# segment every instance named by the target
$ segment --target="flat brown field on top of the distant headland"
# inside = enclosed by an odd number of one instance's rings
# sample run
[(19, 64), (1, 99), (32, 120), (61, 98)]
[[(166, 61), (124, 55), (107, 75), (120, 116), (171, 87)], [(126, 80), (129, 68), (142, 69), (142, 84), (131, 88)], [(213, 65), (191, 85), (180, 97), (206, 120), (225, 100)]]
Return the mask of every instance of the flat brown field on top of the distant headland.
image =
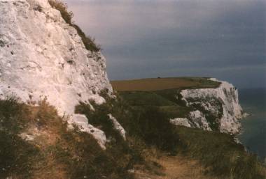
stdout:
[(160, 91), (173, 88), (216, 88), (219, 82), (202, 77), (172, 77), (111, 81), (115, 91)]

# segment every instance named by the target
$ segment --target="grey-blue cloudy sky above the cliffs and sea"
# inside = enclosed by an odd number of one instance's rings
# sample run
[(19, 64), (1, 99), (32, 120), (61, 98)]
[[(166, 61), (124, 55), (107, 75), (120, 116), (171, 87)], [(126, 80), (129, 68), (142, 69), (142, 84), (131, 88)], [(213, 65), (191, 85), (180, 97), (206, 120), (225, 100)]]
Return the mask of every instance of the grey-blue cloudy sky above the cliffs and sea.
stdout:
[(65, 0), (109, 79), (216, 77), (266, 87), (266, 0)]

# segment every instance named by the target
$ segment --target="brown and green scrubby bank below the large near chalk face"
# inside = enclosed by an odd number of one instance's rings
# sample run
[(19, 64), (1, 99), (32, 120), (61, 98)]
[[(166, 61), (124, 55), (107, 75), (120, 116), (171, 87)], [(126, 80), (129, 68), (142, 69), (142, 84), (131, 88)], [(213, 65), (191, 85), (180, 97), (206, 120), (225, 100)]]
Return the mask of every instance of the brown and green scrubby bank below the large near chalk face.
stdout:
[(127, 170), (140, 159), (130, 141), (111, 141), (102, 150), (90, 134), (68, 130), (45, 100), (38, 107), (0, 100), (0, 121), (0, 178), (130, 179)]

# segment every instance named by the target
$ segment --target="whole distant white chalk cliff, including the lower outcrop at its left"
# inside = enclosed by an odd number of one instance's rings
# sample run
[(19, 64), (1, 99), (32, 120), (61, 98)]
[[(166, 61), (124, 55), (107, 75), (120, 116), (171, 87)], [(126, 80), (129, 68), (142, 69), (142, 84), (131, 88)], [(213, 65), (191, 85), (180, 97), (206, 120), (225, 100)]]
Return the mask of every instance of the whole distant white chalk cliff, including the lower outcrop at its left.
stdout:
[[(209, 79), (218, 81), (217, 79)], [(186, 102), (188, 107), (195, 107), (206, 116), (197, 115), (189, 117), (190, 120), (172, 120), (172, 123), (181, 125), (186, 121), (193, 127), (193, 123), (199, 124), (195, 127), (202, 128), (204, 130), (210, 130), (209, 126), (218, 125), (218, 130), (221, 132), (237, 134), (240, 130), (239, 119), (243, 117), (243, 111), (239, 104), (238, 91), (232, 84), (226, 81), (221, 82), (218, 88), (199, 88), (199, 89), (186, 89), (181, 91), (182, 100)], [(209, 125), (206, 123), (207, 115), (214, 119)], [(202, 117), (200, 117), (202, 116)], [(200, 118), (202, 118), (200, 120)], [(180, 122), (179, 122), (180, 121)]]

